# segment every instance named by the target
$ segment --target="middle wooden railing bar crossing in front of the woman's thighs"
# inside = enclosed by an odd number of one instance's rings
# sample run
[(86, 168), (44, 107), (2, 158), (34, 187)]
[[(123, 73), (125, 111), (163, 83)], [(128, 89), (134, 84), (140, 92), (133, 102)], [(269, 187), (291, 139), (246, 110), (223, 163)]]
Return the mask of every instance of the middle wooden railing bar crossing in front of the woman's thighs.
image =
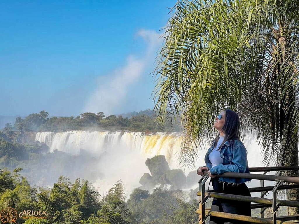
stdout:
[[(205, 195), (208, 195), (208, 197), (214, 197), (219, 199), (244, 201), (244, 202), (256, 202), (256, 203), (272, 205), (272, 199), (268, 199), (268, 198), (250, 197), (250, 196), (243, 196), (243, 195), (236, 195), (236, 194), (223, 194), (223, 193), (215, 193), (215, 192), (206, 192)], [(200, 191), (197, 191), (197, 196), (201, 196)], [(280, 203), (281, 206), (299, 208), (298, 201), (277, 200), (277, 203)]]

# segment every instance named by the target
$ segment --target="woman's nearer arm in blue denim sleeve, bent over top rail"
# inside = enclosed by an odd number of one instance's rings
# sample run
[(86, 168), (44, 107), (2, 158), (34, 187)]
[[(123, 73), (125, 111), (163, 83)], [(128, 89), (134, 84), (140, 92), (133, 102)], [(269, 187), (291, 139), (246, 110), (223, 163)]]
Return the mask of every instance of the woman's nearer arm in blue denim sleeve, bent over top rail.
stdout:
[(216, 165), (210, 169), (210, 172), (212, 175), (221, 175), (226, 172), (244, 173), (247, 167), (247, 154), (243, 144), (234, 149), (232, 163)]

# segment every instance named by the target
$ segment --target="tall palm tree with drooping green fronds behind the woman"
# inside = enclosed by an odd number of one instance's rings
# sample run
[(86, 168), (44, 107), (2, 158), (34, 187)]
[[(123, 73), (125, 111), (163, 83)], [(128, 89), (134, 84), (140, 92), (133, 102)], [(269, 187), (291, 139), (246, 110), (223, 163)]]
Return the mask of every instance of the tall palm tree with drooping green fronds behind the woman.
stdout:
[[(196, 145), (210, 142), (226, 107), (239, 113), (243, 135), (256, 134), (265, 165), (298, 165), (298, 7), (298, 0), (182, 0), (171, 9), (153, 96), (161, 124), (181, 118), (181, 165), (194, 165)], [(298, 200), (298, 191), (287, 198)]]

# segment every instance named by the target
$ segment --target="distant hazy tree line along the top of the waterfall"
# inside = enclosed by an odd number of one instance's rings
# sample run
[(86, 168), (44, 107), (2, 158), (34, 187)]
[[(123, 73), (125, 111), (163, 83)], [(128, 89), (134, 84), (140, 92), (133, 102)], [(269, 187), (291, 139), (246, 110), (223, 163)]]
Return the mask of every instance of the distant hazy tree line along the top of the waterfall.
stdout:
[[(179, 126), (170, 123), (164, 126), (158, 125), (155, 113), (148, 109), (145, 111), (132, 112), (136, 115), (124, 117), (122, 115), (105, 116), (99, 113), (81, 113), (74, 117), (48, 117), (49, 113), (40, 111), (31, 113), (25, 118), (16, 117), (14, 125), (7, 123), (4, 132), (9, 131), (69, 131), (69, 130), (127, 130), (127, 131), (180, 131)], [(126, 114), (129, 115), (129, 114)]]

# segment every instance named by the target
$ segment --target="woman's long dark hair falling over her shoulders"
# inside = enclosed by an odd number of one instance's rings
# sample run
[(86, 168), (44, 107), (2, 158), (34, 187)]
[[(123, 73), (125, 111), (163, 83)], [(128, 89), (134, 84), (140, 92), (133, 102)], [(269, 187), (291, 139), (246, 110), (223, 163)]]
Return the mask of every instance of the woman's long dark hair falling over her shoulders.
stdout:
[[(221, 131), (224, 132), (225, 137), (219, 149), (221, 148), (221, 146), (224, 144), (225, 141), (234, 140), (234, 139), (240, 140), (239, 139), (240, 119), (238, 114), (235, 111), (232, 111), (230, 109), (225, 109), (224, 111), (225, 111), (225, 123)], [(219, 140), (219, 134), (216, 136), (216, 138), (213, 139), (213, 141), (216, 141), (215, 146), (217, 145), (218, 140)]]

